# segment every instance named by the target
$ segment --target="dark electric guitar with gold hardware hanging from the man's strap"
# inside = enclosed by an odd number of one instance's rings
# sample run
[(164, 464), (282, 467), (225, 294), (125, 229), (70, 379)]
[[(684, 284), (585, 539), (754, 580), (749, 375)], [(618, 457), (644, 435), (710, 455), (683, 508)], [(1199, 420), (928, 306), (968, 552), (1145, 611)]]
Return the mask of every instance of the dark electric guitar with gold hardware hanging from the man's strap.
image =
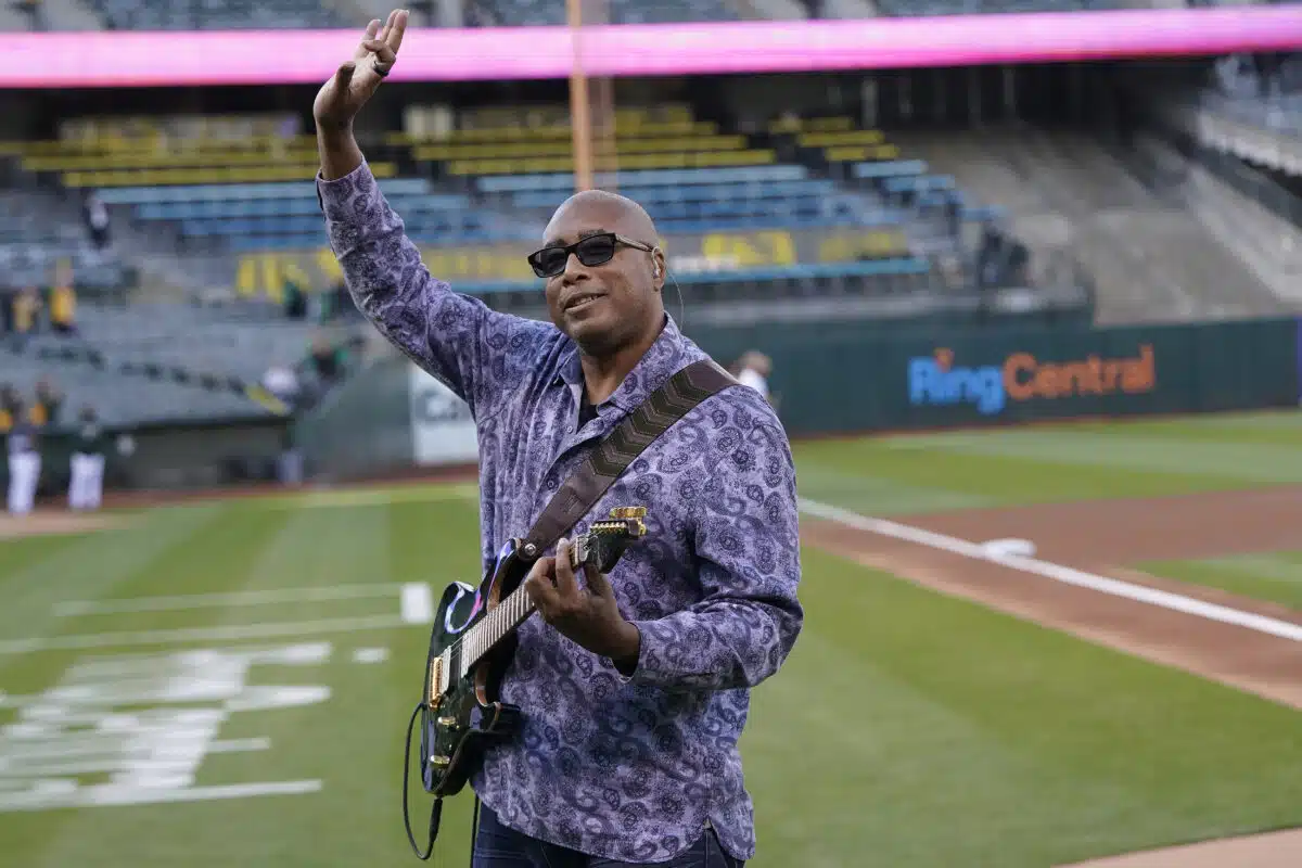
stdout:
[[(634, 541), (646, 536), (646, 508), (611, 510), (609, 521), (592, 522), (570, 548), (570, 565), (592, 566), (609, 573)], [(411, 716), (424, 714), (421, 727), (421, 778), (435, 796), (430, 820), (430, 851), (437, 835), (443, 798), (460, 793), (483, 752), (512, 738), (519, 729), (518, 707), (501, 701), (501, 678), (516, 651), (516, 631), (534, 614), (523, 588), (525, 578), (540, 552), (519, 539), (510, 539), (497, 553), (480, 583), (473, 588), (453, 582), (439, 600), (430, 658), (424, 670), (423, 696)], [(411, 730), (408, 727), (410, 750)], [(402, 808), (406, 815), (406, 769)], [(411, 837), (417, 856), (422, 854)]]

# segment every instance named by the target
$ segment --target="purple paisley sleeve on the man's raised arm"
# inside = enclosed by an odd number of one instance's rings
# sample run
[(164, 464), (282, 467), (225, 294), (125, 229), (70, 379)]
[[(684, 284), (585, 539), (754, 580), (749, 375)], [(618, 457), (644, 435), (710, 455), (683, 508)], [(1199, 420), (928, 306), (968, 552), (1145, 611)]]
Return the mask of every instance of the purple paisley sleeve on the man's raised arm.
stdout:
[(331, 249), (358, 310), (431, 376), (491, 415), (533, 367), (543, 323), (493, 311), (432, 277), (366, 161), (341, 178), (316, 176)]

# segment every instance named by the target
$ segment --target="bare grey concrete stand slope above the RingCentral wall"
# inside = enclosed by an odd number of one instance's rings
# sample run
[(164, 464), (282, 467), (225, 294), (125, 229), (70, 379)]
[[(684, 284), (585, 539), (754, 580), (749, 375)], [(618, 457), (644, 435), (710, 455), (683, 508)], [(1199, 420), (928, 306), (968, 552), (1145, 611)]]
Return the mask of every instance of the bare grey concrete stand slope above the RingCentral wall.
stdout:
[(1069, 250), (1101, 323), (1282, 312), (1288, 305), (1184, 207), (1161, 202), (1095, 141), (1036, 129), (897, 141), (1008, 210), (1032, 250)]

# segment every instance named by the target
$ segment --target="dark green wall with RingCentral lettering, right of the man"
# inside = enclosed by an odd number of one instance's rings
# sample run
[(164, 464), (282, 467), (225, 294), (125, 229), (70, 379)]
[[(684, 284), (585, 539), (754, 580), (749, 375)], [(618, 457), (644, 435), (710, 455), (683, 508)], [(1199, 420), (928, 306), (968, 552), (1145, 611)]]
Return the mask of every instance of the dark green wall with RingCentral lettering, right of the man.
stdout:
[(793, 436), (1293, 406), (1293, 319), (1125, 328), (775, 334)]

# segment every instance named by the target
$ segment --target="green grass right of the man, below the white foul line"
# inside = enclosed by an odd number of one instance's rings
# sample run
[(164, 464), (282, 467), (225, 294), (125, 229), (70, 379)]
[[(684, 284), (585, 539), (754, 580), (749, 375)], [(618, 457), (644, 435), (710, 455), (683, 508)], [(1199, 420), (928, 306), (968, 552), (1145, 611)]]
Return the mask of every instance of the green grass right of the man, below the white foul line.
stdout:
[(1295, 712), (810, 548), (805, 570), (807, 634), (743, 739), (755, 865), (1043, 868), (1302, 822)]

